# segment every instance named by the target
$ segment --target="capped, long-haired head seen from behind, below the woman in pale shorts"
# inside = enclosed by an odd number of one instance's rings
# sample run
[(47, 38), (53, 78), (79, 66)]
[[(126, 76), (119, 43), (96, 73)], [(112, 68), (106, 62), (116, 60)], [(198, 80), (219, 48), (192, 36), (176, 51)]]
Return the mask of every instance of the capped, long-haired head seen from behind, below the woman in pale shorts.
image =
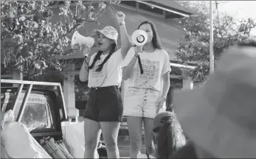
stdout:
[(186, 138), (174, 113), (159, 113), (153, 124), (157, 158), (170, 158), (173, 152), (186, 144)]

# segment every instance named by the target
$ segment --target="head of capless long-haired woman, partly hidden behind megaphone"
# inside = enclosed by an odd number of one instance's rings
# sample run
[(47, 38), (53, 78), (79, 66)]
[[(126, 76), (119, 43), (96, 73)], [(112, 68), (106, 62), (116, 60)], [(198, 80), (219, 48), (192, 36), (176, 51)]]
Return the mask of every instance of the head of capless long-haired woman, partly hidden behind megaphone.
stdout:
[(157, 34), (156, 26), (152, 21), (143, 21), (139, 24), (138, 29), (142, 29), (148, 34), (147, 43), (152, 43), (155, 49), (162, 49), (162, 44), (159, 40), (159, 35)]

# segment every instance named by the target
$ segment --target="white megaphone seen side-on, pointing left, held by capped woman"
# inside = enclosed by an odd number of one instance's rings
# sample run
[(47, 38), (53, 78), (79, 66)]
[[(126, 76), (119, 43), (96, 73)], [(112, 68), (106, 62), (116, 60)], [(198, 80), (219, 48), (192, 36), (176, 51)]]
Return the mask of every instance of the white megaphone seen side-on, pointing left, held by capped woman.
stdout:
[(92, 47), (94, 45), (94, 38), (85, 37), (83, 35), (80, 35), (77, 31), (75, 31), (72, 36), (71, 46), (74, 46), (75, 44)]

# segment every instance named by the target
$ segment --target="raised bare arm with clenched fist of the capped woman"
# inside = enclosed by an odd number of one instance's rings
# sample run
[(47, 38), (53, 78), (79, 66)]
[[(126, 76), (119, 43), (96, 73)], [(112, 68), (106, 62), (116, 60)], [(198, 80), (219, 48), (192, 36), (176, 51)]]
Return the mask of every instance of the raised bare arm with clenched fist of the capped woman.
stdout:
[(125, 59), (125, 56), (128, 52), (128, 50), (132, 47), (131, 40), (128, 37), (128, 32), (125, 27), (125, 14), (121, 11), (117, 12), (117, 22), (120, 26), (120, 36), (121, 36), (121, 54), (122, 59)]

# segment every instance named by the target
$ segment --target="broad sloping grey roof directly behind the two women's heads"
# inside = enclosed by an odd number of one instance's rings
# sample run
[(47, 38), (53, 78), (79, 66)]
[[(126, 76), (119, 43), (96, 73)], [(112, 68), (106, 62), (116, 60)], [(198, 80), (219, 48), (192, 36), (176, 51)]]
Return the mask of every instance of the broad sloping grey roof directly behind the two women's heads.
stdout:
[[(117, 10), (120, 9), (117, 7)], [(160, 40), (162, 41), (163, 49), (165, 49), (169, 56), (170, 60), (175, 60), (175, 52), (178, 48), (178, 40), (183, 39), (184, 31), (177, 27), (173, 26), (173, 24), (170, 23), (170, 21), (167, 21), (166, 19), (161, 18), (155, 18), (151, 15), (147, 15), (145, 13), (139, 13), (136, 11), (131, 12), (131, 10), (122, 8), (122, 12), (125, 13), (125, 22), (126, 22), (126, 29), (128, 32), (128, 35), (132, 35), (132, 33), (137, 29), (139, 24), (142, 21), (150, 20), (153, 21), (153, 23), (156, 25), (156, 29), (159, 33)], [(111, 18), (110, 18), (111, 17)], [(97, 24), (86, 24), (84, 27), (81, 27), (78, 29), (78, 32), (81, 35), (86, 36), (83, 32), (84, 29), (87, 29), (86, 32), (91, 32), (92, 29), (102, 29), (104, 26), (111, 25), (114, 26), (116, 29), (119, 29), (119, 26), (117, 25), (117, 22), (114, 19), (113, 12), (111, 13), (111, 10), (108, 9), (105, 14), (100, 16), (98, 18), (98, 21), (100, 21), (100, 25)], [(91, 29), (91, 30), (90, 30)], [(69, 35), (69, 39), (72, 38), (72, 35)], [(120, 36), (118, 38), (118, 45), (120, 46)], [(70, 55), (69, 57), (66, 57), (66, 59), (74, 59), (74, 58), (83, 58), (83, 54), (80, 54), (80, 52), (77, 52), (75, 54)]]

